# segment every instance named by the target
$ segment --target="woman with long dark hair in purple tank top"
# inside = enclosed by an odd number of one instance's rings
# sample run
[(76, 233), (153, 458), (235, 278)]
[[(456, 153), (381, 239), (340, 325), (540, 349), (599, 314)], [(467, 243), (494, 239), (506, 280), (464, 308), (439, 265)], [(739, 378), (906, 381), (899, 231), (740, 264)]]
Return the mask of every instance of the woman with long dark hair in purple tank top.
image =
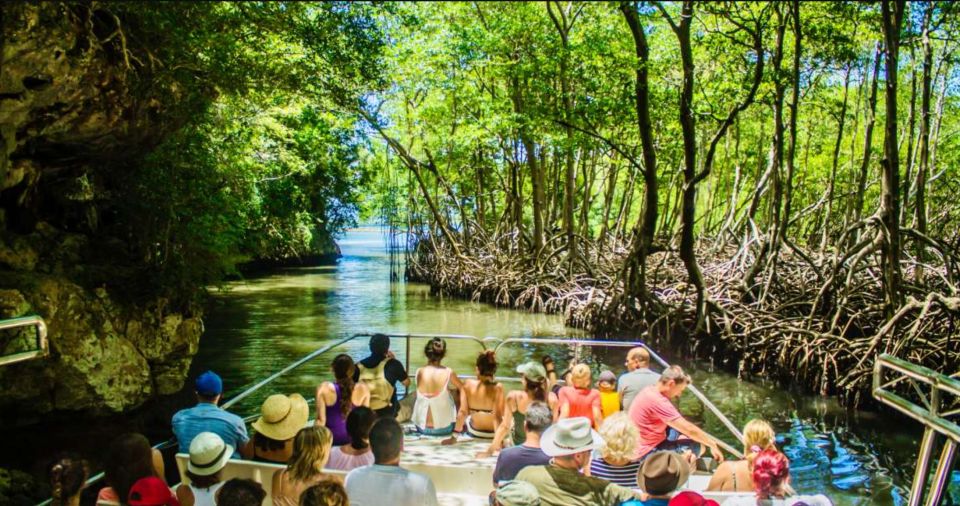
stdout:
[(354, 383), (356, 367), (350, 355), (340, 354), (333, 359), (334, 382), (323, 382), (317, 387), (317, 417), (314, 423), (325, 425), (333, 434), (333, 444), (350, 442), (347, 434), (347, 415), (357, 406), (370, 406), (370, 389), (364, 383)]

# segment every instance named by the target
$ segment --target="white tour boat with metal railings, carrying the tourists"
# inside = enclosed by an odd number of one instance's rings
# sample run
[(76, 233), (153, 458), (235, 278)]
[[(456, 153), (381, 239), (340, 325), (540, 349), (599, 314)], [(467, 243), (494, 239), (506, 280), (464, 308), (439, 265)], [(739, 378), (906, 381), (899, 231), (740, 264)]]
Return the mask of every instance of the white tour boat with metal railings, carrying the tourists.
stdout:
[[(0, 357), (0, 365), (13, 363), (22, 360), (31, 360), (45, 357), (48, 353), (46, 341), (46, 326), (43, 320), (38, 317), (18, 318), (15, 320), (0, 321), (0, 330), (5, 328), (16, 328), (33, 326), (37, 333), (37, 350), (32, 352), (23, 352), (15, 357)], [(667, 367), (669, 364), (664, 361), (659, 354), (650, 349), (645, 343), (640, 341), (598, 341), (583, 339), (538, 339), (538, 338), (477, 338), (467, 335), (449, 335), (449, 334), (387, 334), (391, 339), (402, 339), (405, 343), (406, 368), (410, 370), (411, 340), (429, 339), (441, 337), (448, 341), (472, 341), (480, 350), (494, 350), (499, 353), (501, 350), (510, 347), (523, 347), (529, 349), (534, 346), (553, 345), (567, 346), (571, 349), (574, 357), (579, 357), (585, 348), (632, 348), (643, 346), (650, 353), (652, 360), (661, 367)], [(339, 339), (333, 343), (327, 344), (303, 358), (287, 365), (282, 370), (259, 381), (255, 385), (246, 389), (241, 394), (229, 399), (223, 404), (224, 409), (236, 405), (242, 399), (249, 397), (253, 393), (271, 384), (277, 378), (289, 374), (291, 371), (311, 362), (317, 357), (324, 355), (338, 347), (355, 339), (368, 339), (371, 334), (355, 334), (346, 338)], [(467, 343), (464, 343), (467, 345)], [(519, 378), (509, 378), (498, 376), (498, 381), (517, 382)], [(910, 390), (905, 387), (909, 386)], [(895, 388), (899, 387), (899, 388)], [(415, 392), (415, 388), (408, 389), (409, 392)], [(687, 389), (703, 405), (713, 413), (730, 432), (733, 439), (742, 440), (742, 435), (737, 427), (703, 395), (694, 385)], [(904, 392), (912, 392), (912, 397), (918, 397), (919, 403), (904, 397)], [(960, 415), (960, 409), (950, 408), (950, 402), (960, 397), (960, 381), (955, 378), (940, 374), (925, 367), (912, 364), (910, 362), (892, 357), (881, 355), (875, 363), (873, 373), (873, 395), (881, 403), (893, 407), (905, 415), (919, 421), (925, 426), (923, 439), (921, 440), (920, 452), (913, 483), (908, 496), (908, 504), (916, 506), (924, 501), (925, 504), (933, 506), (938, 504), (940, 498), (946, 489), (949, 480), (950, 470), (953, 459), (956, 454), (957, 443), (960, 443), (960, 426), (954, 420)], [(406, 395), (401, 403), (411, 404), (413, 395)], [(247, 416), (245, 420), (250, 422), (256, 419), (257, 415)], [(313, 422), (308, 422), (312, 424)], [(443, 438), (421, 436), (413, 430), (412, 424), (405, 424), (406, 436), (404, 440), (404, 450), (401, 457), (401, 467), (425, 474), (433, 481), (440, 504), (443, 505), (487, 505), (489, 504), (488, 495), (493, 489), (493, 468), (496, 463), (496, 457), (478, 459), (476, 454), (487, 448), (489, 440), (472, 439), (464, 435), (454, 445), (444, 446), (440, 442)], [(722, 440), (713, 437), (719, 446), (728, 454), (742, 458), (742, 453)], [(943, 449), (941, 451), (936, 470), (928, 483), (928, 475), (931, 463), (934, 461), (933, 449), (938, 444), (938, 438), (943, 438)], [(176, 442), (169, 440), (155, 446), (161, 450), (173, 448)], [(186, 464), (189, 460), (187, 454), (177, 454), (177, 468), (180, 471), (180, 479), (187, 480), (185, 475)], [(261, 483), (267, 491), (267, 499), (264, 504), (271, 504), (270, 491), (272, 487), (273, 474), (282, 469), (280, 464), (267, 464), (252, 461), (231, 460), (222, 471), (223, 480), (231, 478), (249, 478)], [(328, 471), (330, 475), (345, 476), (342, 471)], [(88, 481), (88, 486), (94, 486), (102, 480), (103, 474), (93, 476)], [(699, 492), (704, 497), (714, 499), (723, 503), (726, 499), (738, 495), (752, 495), (735, 492), (707, 492), (706, 487), (710, 480), (710, 474), (702, 471), (691, 473), (687, 483), (683, 484), (678, 490), (692, 490)], [(175, 487), (174, 487), (175, 488)], [(40, 503), (39, 506), (49, 504), (49, 500)], [(99, 503), (108, 505), (110, 503)]]

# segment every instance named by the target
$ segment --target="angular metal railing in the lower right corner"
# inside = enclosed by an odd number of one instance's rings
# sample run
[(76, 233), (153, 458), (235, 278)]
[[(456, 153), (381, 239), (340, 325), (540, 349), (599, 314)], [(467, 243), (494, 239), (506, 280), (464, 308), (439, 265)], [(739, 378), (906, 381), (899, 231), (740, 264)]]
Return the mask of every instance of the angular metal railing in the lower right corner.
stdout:
[[(892, 388), (909, 385), (916, 402), (897, 393)], [(907, 395), (907, 394), (904, 394)], [(960, 426), (948, 417), (960, 415), (960, 409), (949, 409), (946, 401), (960, 399), (960, 381), (937, 371), (907, 362), (892, 355), (881, 355), (873, 366), (873, 396), (880, 402), (913, 418), (924, 426), (923, 439), (917, 455), (917, 468), (910, 486), (908, 504), (917, 506), (927, 496), (927, 506), (940, 503), (950, 477), (950, 469), (960, 443)], [(913, 397), (913, 396), (912, 396)], [(926, 487), (927, 475), (933, 459), (933, 447), (937, 436), (944, 436), (943, 450), (930, 487)], [(926, 490), (926, 494), (924, 491)]]

